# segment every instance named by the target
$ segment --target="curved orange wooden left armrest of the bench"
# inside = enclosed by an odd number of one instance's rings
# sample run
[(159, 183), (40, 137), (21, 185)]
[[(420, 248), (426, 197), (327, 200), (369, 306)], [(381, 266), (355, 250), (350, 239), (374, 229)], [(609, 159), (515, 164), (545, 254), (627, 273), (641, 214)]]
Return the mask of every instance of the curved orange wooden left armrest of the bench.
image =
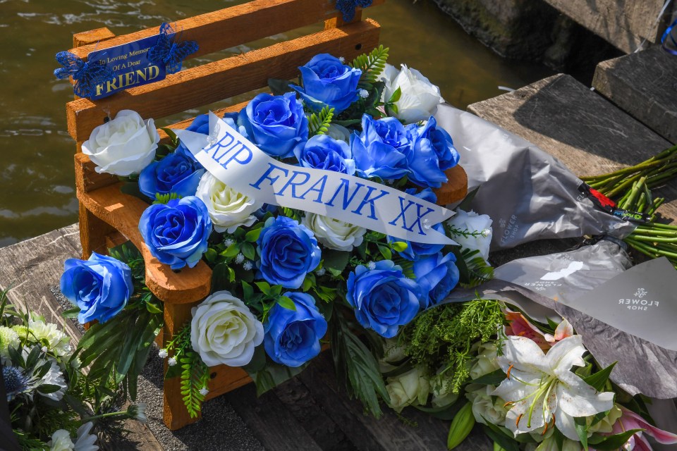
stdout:
[[(75, 157), (78, 159), (80, 156)], [(146, 264), (146, 285), (159, 299), (166, 303), (186, 304), (209, 295), (212, 270), (204, 261), (198, 262), (195, 268), (183, 268), (175, 273), (169, 265), (161, 264), (152, 257), (138, 228), (139, 218), (148, 204), (137, 197), (122, 194), (120, 185), (88, 193), (77, 190), (78, 199), (87, 210), (128, 237), (140, 250)], [(105, 235), (108, 234), (106, 231)]]

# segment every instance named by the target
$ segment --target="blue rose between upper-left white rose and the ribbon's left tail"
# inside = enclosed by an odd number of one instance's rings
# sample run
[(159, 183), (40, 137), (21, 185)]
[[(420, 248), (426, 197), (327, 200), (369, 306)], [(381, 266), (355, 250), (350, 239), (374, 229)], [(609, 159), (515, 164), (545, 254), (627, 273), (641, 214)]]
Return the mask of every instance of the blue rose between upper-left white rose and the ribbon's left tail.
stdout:
[(181, 197), (194, 196), (205, 168), (193, 154), (177, 147), (160, 161), (153, 161), (139, 175), (139, 189), (151, 199), (155, 193), (174, 192)]

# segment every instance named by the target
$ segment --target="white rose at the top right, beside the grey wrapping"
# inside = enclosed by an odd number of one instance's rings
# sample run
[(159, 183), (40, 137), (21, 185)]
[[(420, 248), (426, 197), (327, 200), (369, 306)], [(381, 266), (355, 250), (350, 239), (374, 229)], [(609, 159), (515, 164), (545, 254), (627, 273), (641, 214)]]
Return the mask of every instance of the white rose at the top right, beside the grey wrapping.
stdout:
[(400, 88), (402, 94), (395, 102), (397, 106), (395, 116), (405, 123), (426, 121), (437, 112), (437, 105), (444, 102), (439, 87), (433, 85), (418, 70), (410, 69), (405, 64), (401, 70), (386, 64), (381, 75), (386, 83), (382, 101), (389, 101), (397, 88)]

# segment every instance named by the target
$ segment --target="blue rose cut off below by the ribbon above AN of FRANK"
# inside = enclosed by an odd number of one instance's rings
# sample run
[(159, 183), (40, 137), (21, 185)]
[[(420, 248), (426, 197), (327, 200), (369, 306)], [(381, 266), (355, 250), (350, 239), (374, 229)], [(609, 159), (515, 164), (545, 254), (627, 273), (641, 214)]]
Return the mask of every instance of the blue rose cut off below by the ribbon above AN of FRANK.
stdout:
[(303, 149), (296, 148), (294, 155), (304, 168), (324, 169), (348, 175), (355, 173), (355, 161), (345, 141), (337, 141), (328, 135), (315, 135)]

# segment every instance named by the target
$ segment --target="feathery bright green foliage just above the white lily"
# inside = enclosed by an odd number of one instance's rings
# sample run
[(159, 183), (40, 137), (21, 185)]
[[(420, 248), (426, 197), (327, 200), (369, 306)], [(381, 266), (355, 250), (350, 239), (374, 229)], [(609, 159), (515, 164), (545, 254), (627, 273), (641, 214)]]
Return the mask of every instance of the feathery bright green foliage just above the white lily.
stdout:
[(403, 329), (400, 343), (414, 366), (425, 366), (433, 374), (443, 367), (441, 383), (458, 393), (470, 378), (472, 345), (498, 343), (504, 321), (501, 304), (493, 299), (444, 304), (419, 314)]

